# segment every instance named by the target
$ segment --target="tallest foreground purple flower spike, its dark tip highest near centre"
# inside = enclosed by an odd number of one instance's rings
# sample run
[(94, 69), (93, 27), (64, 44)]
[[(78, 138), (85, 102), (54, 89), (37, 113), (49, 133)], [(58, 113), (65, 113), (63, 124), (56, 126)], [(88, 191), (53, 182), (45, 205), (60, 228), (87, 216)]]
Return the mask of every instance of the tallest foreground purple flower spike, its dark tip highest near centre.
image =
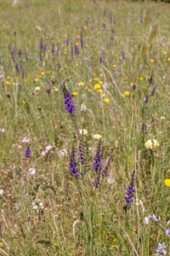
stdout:
[(75, 113), (75, 104), (73, 103), (72, 96), (70, 92), (65, 88), (65, 83), (62, 84), (61, 90), (64, 92), (64, 102), (65, 102), (65, 113), (70, 113), (71, 116)]

